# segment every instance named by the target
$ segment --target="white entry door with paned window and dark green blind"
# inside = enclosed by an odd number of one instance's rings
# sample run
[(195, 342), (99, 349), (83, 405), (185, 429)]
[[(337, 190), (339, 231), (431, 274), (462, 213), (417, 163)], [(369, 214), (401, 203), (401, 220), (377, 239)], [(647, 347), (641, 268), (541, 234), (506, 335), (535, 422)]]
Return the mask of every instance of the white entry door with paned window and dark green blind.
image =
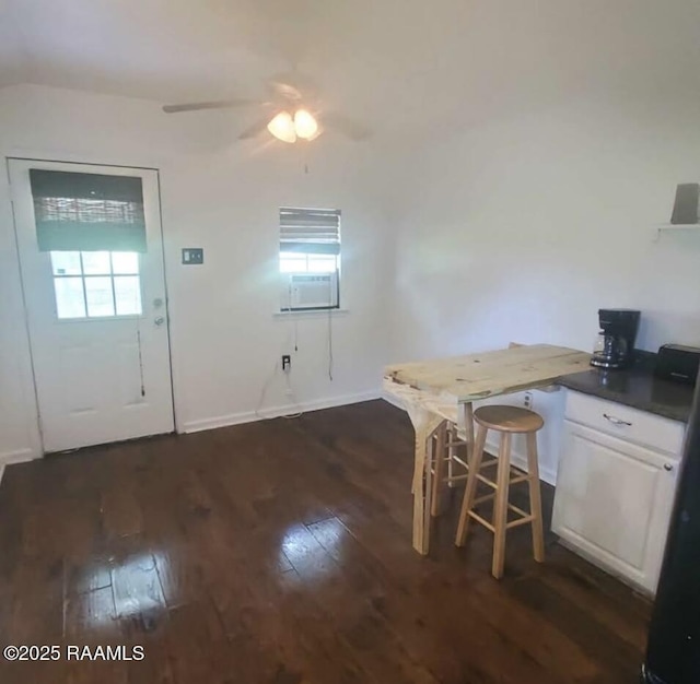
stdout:
[[(172, 432), (158, 172), (30, 160), (9, 170), (44, 450)], [(37, 190), (37, 177), (59, 190)], [(85, 189), (97, 180), (128, 184), (141, 203)], [(74, 226), (78, 241), (47, 241), (39, 224)], [(103, 238), (105, 226), (140, 231), (141, 245)]]

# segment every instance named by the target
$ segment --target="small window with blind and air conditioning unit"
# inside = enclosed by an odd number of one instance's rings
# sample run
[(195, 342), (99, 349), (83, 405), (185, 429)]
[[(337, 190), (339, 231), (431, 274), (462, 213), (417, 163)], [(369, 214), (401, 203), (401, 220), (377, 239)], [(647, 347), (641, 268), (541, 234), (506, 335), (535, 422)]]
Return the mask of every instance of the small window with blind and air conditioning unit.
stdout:
[(280, 209), (282, 310), (338, 308), (340, 210)]

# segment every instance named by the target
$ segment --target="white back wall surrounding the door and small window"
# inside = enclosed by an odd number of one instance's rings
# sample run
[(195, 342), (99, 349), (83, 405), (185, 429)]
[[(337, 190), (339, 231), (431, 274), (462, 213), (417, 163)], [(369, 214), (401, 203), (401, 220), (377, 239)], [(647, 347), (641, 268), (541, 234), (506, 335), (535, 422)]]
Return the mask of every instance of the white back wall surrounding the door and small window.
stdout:
[[(382, 293), (388, 235), (371, 145), (327, 135), (306, 151), (238, 143), (231, 113), (168, 117), (155, 103), (39, 86), (0, 91), (0, 155), (156, 167), (161, 172), (176, 418), (179, 429), (289, 410), (281, 353), (292, 323), (275, 318), (280, 205), (342, 210), (341, 306), (327, 375), (326, 316), (299, 319), (291, 382), (306, 408), (376, 396), (386, 361)], [(249, 122), (249, 121), (248, 121)], [(307, 172), (305, 169), (307, 166)], [(4, 181), (3, 181), (4, 184)], [(179, 264), (203, 247), (205, 266)], [(38, 453), (11, 209), (0, 198), (0, 462)]]

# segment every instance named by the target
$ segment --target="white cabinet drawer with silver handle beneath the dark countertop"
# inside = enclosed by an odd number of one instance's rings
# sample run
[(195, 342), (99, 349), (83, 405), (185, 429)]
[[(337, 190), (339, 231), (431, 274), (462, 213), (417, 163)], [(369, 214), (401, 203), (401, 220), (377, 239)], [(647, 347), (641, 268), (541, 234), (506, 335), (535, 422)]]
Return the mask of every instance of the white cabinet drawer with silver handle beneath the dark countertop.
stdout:
[(648, 445), (679, 457), (685, 425), (597, 397), (567, 390), (565, 416), (620, 439)]

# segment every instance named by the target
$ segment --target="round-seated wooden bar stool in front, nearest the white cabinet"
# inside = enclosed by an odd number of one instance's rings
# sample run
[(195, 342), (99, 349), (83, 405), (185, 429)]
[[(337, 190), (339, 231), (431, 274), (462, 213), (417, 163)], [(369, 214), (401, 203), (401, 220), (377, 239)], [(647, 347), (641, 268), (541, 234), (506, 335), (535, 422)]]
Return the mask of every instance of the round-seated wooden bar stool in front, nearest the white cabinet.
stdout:
[[(474, 453), (469, 463), (469, 477), (464, 494), (459, 526), (455, 544), (464, 546), (467, 539), (469, 518), (474, 518), (483, 527), (493, 532), (493, 562), (491, 574), (497, 579), (503, 577), (505, 561), (505, 532), (518, 524), (532, 522), (533, 526), (533, 555), (535, 561), (541, 563), (545, 559), (545, 534), (542, 530), (542, 506), (539, 492), (539, 469), (537, 465), (537, 431), (542, 427), (545, 421), (540, 415), (527, 409), (518, 406), (481, 406), (474, 412), (474, 420), (479, 426)], [(489, 429), (501, 434), (498, 459), (483, 461), (483, 447)], [(514, 434), (524, 434), (527, 441), (527, 473), (515, 471), (511, 476), (511, 439)], [(495, 482), (481, 474), (481, 470), (498, 465)], [(493, 493), (476, 498), (477, 483), (482, 482), (490, 486)], [(529, 484), (530, 512), (524, 511), (509, 503), (509, 487), (511, 484), (527, 482)], [(489, 522), (475, 510), (478, 504), (493, 499), (493, 521)], [(509, 510), (518, 517), (508, 521)]]

